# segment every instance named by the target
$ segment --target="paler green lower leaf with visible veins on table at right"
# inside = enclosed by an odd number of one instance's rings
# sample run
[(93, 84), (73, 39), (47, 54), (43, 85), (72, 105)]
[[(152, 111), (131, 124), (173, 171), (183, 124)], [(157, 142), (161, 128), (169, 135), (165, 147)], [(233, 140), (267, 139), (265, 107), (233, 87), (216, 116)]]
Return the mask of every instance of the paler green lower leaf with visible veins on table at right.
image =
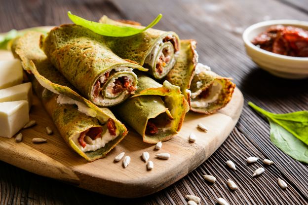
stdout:
[(308, 145), (269, 119), (270, 141), (295, 160), (308, 164)]

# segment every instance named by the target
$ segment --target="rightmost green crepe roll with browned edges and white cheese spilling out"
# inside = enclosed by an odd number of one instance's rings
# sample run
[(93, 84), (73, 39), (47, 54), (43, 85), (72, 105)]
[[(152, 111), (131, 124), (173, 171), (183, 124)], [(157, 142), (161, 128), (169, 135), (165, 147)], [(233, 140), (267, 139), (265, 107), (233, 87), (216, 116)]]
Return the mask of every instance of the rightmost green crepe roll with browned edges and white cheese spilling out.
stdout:
[(198, 63), (196, 41), (181, 40), (177, 63), (166, 79), (181, 88), (194, 112), (211, 114), (230, 102), (235, 84)]

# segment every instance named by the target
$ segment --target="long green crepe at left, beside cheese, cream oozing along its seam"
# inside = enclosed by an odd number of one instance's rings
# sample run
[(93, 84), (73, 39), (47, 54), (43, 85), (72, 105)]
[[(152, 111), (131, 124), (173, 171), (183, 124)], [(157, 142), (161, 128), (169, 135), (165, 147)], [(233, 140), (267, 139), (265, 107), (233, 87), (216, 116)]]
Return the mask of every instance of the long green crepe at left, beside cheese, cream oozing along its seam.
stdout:
[(39, 48), (41, 33), (30, 32), (14, 40), (12, 52), (22, 61), (35, 91), (67, 144), (88, 161), (105, 157), (127, 134), (108, 108), (81, 97), (52, 66)]

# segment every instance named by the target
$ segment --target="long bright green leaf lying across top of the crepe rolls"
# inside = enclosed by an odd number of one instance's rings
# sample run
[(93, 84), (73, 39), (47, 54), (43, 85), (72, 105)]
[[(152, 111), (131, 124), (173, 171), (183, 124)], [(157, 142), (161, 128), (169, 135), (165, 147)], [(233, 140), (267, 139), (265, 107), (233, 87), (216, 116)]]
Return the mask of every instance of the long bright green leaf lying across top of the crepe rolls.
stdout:
[(124, 36), (139, 34), (141, 32), (146, 31), (149, 28), (152, 28), (155, 24), (159, 22), (159, 20), (162, 17), (162, 14), (158, 14), (158, 16), (154, 19), (154, 21), (144, 29), (138, 29), (128, 26), (116, 26), (111, 24), (101, 24), (94, 21), (88, 21), (86, 19), (83, 19), (79, 16), (72, 14), (71, 11), (68, 12), (68, 16), (75, 24), (83, 26), (96, 34), (113, 36), (113, 37), (124, 37)]

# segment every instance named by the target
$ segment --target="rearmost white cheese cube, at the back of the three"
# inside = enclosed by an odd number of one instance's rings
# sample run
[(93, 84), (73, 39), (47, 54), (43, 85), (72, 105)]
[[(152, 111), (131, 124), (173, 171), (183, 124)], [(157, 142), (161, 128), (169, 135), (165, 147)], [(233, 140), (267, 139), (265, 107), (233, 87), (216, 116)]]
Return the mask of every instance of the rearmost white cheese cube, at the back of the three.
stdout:
[(19, 60), (0, 61), (0, 89), (18, 85), (23, 81), (23, 68)]

